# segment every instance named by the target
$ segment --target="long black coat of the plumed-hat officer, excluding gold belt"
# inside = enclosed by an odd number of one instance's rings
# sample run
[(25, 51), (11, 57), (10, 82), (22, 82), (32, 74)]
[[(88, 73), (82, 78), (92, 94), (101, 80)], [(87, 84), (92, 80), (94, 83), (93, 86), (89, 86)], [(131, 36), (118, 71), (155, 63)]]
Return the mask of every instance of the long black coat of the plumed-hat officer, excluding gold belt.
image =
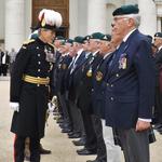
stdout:
[(24, 44), (16, 56), (10, 100), (19, 103), (19, 112), (13, 114), (11, 131), (19, 136), (44, 136), (49, 86), (26, 82), (23, 77), (28, 75), (52, 79), (53, 64), (49, 62), (46, 53), (52, 55), (54, 48), (38, 38)]

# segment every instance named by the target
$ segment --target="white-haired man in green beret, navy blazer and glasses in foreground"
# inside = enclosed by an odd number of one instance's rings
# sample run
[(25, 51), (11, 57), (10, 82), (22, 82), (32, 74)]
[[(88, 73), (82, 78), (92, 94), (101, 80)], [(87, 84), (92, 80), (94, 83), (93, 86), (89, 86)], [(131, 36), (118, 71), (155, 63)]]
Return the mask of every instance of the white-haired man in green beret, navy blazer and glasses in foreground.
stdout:
[(154, 98), (151, 42), (138, 31), (136, 5), (113, 11), (113, 37), (121, 44), (108, 64), (106, 124), (118, 130), (126, 162), (149, 162), (148, 130)]

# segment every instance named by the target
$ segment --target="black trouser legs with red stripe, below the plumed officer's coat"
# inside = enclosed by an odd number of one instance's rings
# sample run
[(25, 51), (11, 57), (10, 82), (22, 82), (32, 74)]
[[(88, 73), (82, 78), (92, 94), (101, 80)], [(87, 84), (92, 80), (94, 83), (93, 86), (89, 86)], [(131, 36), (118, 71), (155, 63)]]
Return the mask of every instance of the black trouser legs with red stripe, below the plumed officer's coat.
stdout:
[[(25, 149), (25, 139), (23, 136), (15, 136), (14, 141), (14, 162), (24, 162), (24, 149)], [(40, 162), (40, 152), (39, 152), (40, 139), (38, 137), (30, 137), (30, 162)]]

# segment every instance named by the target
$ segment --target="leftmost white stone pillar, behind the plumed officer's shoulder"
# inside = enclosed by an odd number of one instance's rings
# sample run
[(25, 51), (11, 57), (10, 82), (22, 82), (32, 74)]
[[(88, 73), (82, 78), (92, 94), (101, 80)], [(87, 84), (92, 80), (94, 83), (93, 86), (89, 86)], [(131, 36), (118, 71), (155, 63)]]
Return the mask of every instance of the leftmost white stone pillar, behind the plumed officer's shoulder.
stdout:
[(25, 41), (25, 0), (5, 0), (5, 50), (18, 50)]

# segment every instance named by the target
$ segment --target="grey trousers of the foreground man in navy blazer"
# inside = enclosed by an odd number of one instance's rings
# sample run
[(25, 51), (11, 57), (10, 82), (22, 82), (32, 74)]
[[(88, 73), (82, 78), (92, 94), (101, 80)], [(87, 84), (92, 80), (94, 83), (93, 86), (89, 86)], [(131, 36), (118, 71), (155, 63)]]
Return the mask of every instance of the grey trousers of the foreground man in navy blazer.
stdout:
[(118, 129), (125, 162), (149, 162), (148, 131), (136, 132), (135, 129)]

